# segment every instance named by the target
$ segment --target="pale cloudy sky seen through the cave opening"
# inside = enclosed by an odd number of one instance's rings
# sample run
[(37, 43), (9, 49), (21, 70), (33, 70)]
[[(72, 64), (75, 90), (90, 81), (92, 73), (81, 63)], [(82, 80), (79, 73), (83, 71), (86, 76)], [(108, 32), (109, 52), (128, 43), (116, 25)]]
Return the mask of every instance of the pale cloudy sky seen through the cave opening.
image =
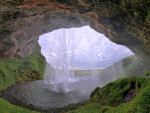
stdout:
[(41, 35), (38, 42), (42, 55), (54, 67), (65, 56), (62, 51), (66, 51), (68, 65), (74, 69), (106, 68), (133, 54), (89, 26), (54, 30)]

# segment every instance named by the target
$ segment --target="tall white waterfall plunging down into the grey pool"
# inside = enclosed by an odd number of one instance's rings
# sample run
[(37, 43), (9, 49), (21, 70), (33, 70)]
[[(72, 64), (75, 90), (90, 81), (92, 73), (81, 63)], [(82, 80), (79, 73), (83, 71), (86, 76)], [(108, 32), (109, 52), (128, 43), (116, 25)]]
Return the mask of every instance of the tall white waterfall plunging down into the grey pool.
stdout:
[[(63, 29), (62, 35), (57, 37), (60, 41), (60, 43), (57, 44), (57, 50), (53, 51), (52, 49), (49, 49), (49, 62), (56, 65), (52, 66), (47, 63), (44, 80), (46, 84), (51, 84), (53, 91), (68, 92), (68, 83), (75, 80), (73, 71), (74, 42), (71, 35), (72, 34), (69, 35), (69, 38), (66, 38), (65, 29)], [(68, 48), (71, 50), (69, 51), (71, 52), (70, 57), (67, 54)]]

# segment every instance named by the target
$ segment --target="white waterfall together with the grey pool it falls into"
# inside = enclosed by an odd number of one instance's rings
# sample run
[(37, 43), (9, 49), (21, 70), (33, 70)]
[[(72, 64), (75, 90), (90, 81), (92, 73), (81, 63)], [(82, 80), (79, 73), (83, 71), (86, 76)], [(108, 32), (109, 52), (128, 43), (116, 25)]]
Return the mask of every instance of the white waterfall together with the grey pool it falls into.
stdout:
[[(66, 39), (65, 30), (63, 30), (63, 35), (58, 38), (61, 43), (58, 44), (57, 49), (49, 49), (51, 64), (47, 63), (44, 80), (16, 84), (5, 91), (9, 95), (6, 98), (21, 100), (21, 102), (37, 108), (59, 108), (90, 99), (91, 92), (97, 86), (104, 86), (110, 78), (114, 80), (113, 78), (118, 72), (113, 67), (110, 68), (109, 73), (106, 73), (105, 79), (96, 77), (94, 73), (89, 76), (75, 77), (73, 37), (72, 41)], [(69, 57), (68, 47), (71, 50)], [(117, 68), (121, 73), (121, 64)]]

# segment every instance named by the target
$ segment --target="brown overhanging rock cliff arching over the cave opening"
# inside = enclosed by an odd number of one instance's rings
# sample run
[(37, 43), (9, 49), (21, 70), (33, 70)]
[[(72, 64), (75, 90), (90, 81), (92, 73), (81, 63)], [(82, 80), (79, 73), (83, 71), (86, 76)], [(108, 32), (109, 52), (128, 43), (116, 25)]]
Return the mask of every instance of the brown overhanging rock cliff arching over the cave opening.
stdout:
[(39, 52), (40, 35), (84, 25), (150, 60), (149, 0), (1, 0), (0, 59)]

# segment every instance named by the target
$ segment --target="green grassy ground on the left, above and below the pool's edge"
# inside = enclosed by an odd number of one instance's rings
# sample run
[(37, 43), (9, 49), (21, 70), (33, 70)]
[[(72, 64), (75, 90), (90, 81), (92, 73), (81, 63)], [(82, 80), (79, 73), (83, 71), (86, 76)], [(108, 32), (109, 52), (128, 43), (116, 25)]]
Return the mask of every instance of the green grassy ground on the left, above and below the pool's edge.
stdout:
[[(16, 82), (41, 79), (44, 74), (45, 61), (38, 55), (30, 55), (19, 59), (0, 60), (0, 91)], [(0, 113), (31, 113), (12, 105), (0, 98)]]

